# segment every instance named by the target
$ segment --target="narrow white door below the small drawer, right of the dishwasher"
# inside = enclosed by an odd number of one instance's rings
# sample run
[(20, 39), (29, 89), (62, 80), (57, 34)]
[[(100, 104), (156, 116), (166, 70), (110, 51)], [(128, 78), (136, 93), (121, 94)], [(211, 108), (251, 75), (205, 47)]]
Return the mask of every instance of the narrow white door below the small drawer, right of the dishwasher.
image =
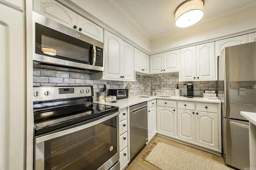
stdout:
[(150, 141), (156, 133), (156, 106), (148, 109), (148, 141)]

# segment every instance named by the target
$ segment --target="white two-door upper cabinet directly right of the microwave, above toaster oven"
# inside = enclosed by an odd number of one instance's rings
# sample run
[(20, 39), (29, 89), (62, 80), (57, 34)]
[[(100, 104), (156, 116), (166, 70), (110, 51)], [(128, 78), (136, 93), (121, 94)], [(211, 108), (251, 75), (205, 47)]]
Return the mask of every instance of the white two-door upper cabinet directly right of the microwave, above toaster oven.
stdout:
[(135, 81), (134, 47), (104, 30), (105, 71), (91, 75), (91, 80)]

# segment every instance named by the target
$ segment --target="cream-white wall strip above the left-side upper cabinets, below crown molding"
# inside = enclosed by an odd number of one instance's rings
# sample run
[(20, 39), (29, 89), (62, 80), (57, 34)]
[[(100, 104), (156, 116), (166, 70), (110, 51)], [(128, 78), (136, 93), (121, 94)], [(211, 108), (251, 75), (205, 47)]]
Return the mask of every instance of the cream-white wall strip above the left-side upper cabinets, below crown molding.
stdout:
[[(112, 27), (115, 31), (124, 35), (121, 38), (128, 38), (135, 43), (135, 45), (144, 51), (150, 53), (151, 42), (138, 29), (136, 29), (130, 22), (121, 16), (108, 2), (105, 0), (71, 0), (76, 5), (80, 6), (106, 25)], [(112, 30), (108, 30), (112, 31)], [(133, 45), (133, 44), (132, 44)]]

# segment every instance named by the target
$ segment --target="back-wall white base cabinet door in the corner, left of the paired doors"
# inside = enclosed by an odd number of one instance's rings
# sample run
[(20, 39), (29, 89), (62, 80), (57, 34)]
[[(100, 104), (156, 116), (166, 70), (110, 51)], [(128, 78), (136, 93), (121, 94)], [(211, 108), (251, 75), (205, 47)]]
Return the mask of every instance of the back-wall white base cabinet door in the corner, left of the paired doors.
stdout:
[(157, 131), (176, 137), (176, 108), (157, 106)]

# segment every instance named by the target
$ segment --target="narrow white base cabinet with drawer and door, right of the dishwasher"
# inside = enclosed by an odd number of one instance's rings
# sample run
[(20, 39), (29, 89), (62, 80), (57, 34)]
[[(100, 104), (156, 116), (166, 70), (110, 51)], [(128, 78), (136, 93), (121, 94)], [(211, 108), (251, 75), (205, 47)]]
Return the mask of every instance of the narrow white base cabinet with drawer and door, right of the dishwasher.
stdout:
[(148, 102), (148, 142), (156, 135), (156, 100)]

